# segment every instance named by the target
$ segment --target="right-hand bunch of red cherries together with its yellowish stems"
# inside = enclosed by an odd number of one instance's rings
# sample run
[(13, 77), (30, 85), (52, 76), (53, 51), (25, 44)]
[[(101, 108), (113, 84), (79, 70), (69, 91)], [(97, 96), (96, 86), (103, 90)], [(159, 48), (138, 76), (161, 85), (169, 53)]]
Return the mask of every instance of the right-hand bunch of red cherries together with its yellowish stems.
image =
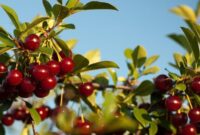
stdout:
[[(200, 94), (200, 77), (185, 81), (185, 92), (176, 91), (173, 81), (166, 75), (159, 75), (155, 80), (156, 89), (168, 95), (165, 108), (169, 112), (168, 120), (181, 135), (196, 135), (200, 123), (200, 107), (190, 98), (191, 93)], [(188, 109), (183, 108), (183, 102), (188, 103)]]

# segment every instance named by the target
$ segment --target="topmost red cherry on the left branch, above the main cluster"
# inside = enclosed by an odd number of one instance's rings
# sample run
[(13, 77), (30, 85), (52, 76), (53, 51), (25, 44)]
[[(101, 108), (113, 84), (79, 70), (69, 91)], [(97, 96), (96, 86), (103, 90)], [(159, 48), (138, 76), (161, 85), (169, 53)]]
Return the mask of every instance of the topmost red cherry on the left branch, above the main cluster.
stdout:
[(40, 46), (40, 37), (36, 34), (31, 34), (26, 37), (24, 47), (28, 50), (35, 51)]

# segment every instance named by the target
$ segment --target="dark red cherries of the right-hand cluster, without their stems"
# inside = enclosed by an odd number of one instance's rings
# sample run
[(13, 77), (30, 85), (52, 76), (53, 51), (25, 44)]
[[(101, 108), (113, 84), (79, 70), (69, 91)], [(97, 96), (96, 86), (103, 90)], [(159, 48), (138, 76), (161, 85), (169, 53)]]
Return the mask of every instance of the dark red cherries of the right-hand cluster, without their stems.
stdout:
[[(161, 93), (165, 93), (172, 89), (173, 81), (166, 75), (159, 75), (154, 80), (155, 87)], [(195, 77), (189, 84), (190, 89), (200, 94), (200, 77)], [(190, 101), (189, 101), (190, 102)], [(200, 107), (191, 107), (188, 113), (178, 111), (182, 107), (182, 100), (178, 95), (169, 95), (165, 99), (165, 108), (169, 112), (176, 112), (171, 116), (172, 124), (177, 127), (181, 135), (196, 135), (198, 123), (200, 122)], [(189, 118), (189, 124), (188, 124)]]

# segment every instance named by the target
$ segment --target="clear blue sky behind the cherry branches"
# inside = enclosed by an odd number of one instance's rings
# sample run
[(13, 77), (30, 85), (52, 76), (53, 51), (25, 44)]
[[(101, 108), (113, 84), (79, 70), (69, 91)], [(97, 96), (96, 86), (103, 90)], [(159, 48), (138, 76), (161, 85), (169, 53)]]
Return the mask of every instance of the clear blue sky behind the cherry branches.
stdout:
[[(88, 1), (82, 0), (83, 3)], [(168, 62), (173, 60), (173, 52), (183, 53), (166, 35), (180, 33), (180, 26), (185, 26), (182, 19), (170, 13), (169, 9), (180, 4), (194, 8), (197, 1), (109, 0), (119, 11), (96, 10), (78, 13), (66, 20), (68, 23), (74, 23), (76, 30), (64, 32), (62, 38), (79, 40), (75, 53), (83, 54), (88, 50), (100, 49), (102, 60), (112, 60), (119, 64), (120, 69), (117, 72), (120, 76), (127, 74), (123, 50), (143, 45), (149, 56), (160, 55), (155, 64), (161, 67), (160, 73), (166, 73), (164, 68), (173, 70), (168, 65)], [(14, 8), (22, 21), (29, 21), (38, 14), (45, 15), (40, 0), (0, 0), (0, 3)], [(11, 31), (13, 27), (8, 17), (2, 10), (0, 14), (0, 25)]]

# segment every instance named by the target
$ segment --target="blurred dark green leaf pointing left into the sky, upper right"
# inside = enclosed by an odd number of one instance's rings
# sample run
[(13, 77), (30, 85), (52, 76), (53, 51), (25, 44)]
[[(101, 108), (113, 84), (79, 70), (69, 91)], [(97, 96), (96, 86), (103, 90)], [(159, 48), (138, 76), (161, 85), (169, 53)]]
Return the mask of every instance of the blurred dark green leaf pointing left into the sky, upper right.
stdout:
[(182, 34), (170, 34), (168, 35), (169, 38), (174, 40), (178, 45), (180, 45), (183, 49), (188, 51), (189, 53), (192, 51), (189, 42), (187, 41), (186, 37)]

